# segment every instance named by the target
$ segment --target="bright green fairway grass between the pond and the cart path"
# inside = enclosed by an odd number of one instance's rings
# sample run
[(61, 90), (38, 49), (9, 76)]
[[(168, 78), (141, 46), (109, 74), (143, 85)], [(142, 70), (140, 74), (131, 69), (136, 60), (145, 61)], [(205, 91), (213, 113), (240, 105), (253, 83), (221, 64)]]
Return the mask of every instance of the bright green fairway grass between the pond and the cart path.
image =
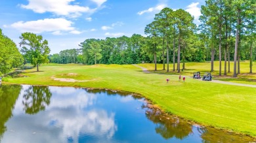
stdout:
[[(154, 69), (153, 64), (140, 65)], [(187, 70), (182, 75), (192, 76), (192, 72), (207, 71), (209, 66), (210, 63), (186, 63)], [(217, 64), (215, 66), (216, 70)], [(230, 86), (192, 78), (179, 82), (174, 72), (143, 73), (133, 65), (48, 64), (39, 67), (39, 70), (41, 72), (27, 70), (23, 74), (28, 77), (5, 80), (12, 84), (93, 87), (139, 93), (165, 112), (184, 119), (256, 136), (256, 88), (253, 87)], [(88, 81), (59, 82), (53, 76)], [(249, 76), (255, 79), (255, 74)], [(168, 84), (166, 78), (170, 79)]]

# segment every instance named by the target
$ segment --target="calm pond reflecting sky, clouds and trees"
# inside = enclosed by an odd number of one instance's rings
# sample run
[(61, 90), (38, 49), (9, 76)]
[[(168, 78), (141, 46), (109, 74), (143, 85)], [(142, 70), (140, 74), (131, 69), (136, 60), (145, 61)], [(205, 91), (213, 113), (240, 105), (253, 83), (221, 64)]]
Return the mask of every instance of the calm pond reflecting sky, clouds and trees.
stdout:
[(129, 93), (74, 87), (0, 86), (0, 142), (249, 142), (190, 125)]

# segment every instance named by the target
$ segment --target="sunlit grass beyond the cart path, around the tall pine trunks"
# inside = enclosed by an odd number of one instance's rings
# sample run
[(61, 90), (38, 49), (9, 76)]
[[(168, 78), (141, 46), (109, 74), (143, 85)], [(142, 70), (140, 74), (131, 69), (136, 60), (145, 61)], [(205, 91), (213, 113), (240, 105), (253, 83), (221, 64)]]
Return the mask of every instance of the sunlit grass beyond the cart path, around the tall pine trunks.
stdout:
[[(227, 63), (228, 64), (228, 63)], [(154, 71), (154, 64), (139, 64), (142, 67), (146, 67), (149, 71)], [(256, 62), (253, 62), (253, 72), (249, 73), (249, 61), (240, 61), (240, 72), (241, 74), (238, 74), (237, 78), (233, 78), (234, 74), (234, 62), (230, 62), (230, 72), (228, 72), (228, 67), (226, 69), (227, 75), (224, 75), (224, 61), (221, 63), (222, 65), (222, 76), (219, 76), (219, 61), (214, 62), (214, 71), (211, 72), (213, 74), (214, 80), (222, 80), (226, 82), (235, 82), (240, 84), (253, 84), (256, 85)], [(181, 64), (182, 67), (182, 64)], [(177, 68), (177, 64), (175, 64), (175, 69)], [(173, 63), (169, 65), (169, 71), (166, 72), (167, 65), (165, 64), (165, 70), (163, 70), (163, 65), (158, 64), (158, 71), (157, 73), (164, 73), (164, 74), (179, 74), (176, 71), (173, 72)], [(201, 74), (204, 72), (210, 72), (211, 71), (211, 63), (205, 62), (205, 63), (185, 63), (185, 70), (181, 71), (181, 74), (186, 76), (192, 76), (193, 72), (200, 71)]]

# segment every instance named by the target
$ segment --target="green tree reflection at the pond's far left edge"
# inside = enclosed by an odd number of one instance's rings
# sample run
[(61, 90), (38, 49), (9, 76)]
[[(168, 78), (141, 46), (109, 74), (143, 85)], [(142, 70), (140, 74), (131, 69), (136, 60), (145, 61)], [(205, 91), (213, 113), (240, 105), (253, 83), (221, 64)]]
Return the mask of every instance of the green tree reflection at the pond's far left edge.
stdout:
[(20, 94), (20, 85), (1, 85), (0, 86), (0, 138), (6, 131), (5, 123), (12, 116), (12, 109)]

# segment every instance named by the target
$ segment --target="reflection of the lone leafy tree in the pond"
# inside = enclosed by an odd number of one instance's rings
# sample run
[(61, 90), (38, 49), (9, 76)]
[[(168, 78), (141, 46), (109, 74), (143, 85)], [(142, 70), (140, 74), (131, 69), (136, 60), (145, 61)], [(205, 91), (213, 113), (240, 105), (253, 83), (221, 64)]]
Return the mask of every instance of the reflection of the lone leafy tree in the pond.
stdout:
[(24, 92), (22, 104), (27, 114), (45, 110), (45, 106), (51, 102), (52, 93), (47, 86), (30, 86)]

